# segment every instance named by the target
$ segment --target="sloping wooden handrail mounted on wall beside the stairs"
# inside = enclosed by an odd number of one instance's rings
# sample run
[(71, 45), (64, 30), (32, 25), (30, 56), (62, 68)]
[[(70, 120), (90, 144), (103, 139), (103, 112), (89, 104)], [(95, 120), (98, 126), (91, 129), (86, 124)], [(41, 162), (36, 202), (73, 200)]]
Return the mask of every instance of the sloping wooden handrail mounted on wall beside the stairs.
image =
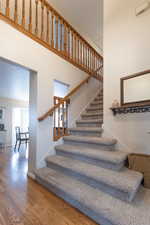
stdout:
[[(97, 73), (97, 71), (99, 71), (101, 69), (101, 67), (99, 67), (95, 73)], [(95, 78), (96, 75), (93, 74), (93, 77)], [(62, 100), (60, 100), (60, 102), (56, 105), (54, 105), (51, 109), (49, 109), (43, 116), (38, 118), (38, 121), (43, 121), (45, 120), (48, 116), (52, 116), (53, 112), (60, 107), (61, 104), (63, 104), (64, 102), (66, 102), (73, 94), (75, 94), (85, 83), (87, 83), (89, 81), (89, 79), (91, 78), (91, 76), (88, 76), (86, 79), (84, 79), (80, 84), (78, 84), (75, 88), (73, 88), (73, 90), (71, 92), (69, 92), (68, 95), (66, 95)], [(102, 80), (102, 77), (101, 79)]]

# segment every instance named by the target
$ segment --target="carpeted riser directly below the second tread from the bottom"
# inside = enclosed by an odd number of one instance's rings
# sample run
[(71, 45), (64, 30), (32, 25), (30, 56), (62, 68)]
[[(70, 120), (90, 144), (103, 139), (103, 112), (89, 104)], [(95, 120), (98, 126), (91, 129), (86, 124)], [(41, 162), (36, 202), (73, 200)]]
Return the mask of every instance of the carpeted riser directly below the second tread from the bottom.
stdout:
[(60, 166), (56, 163), (46, 162), (46, 164), (47, 164), (47, 167), (51, 169), (60, 171), (61, 173), (64, 173), (67, 176), (71, 176), (85, 184), (90, 185), (91, 187), (100, 189), (101, 191), (104, 191), (112, 195), (113, 197), (119, 198), (123, 201), (129, 201), (128, 193), (124, 192), (123, 190), (117, 190), (115, 187), (109, 186), (108, 184), (105, 184), (102, 181), (95, 180), (93, 177), (88, 177), (85, 174)]

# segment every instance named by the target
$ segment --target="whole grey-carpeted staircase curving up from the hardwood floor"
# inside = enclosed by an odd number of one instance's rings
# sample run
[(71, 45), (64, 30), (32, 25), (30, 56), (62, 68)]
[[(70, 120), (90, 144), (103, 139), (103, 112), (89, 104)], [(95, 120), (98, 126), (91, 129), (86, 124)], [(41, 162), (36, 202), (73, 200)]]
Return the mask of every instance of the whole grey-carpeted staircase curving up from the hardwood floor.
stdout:
[(143, 176), (125, 167), (127, 153), (115, 150), (117, 140), (102, 137), (102, 123), (101, 92), (56, 155), (45, 159), (47, 166), (35, 171), (36, 180), (100, 225), (149, 225), (150, 216), (143, 219), (131, 203)]

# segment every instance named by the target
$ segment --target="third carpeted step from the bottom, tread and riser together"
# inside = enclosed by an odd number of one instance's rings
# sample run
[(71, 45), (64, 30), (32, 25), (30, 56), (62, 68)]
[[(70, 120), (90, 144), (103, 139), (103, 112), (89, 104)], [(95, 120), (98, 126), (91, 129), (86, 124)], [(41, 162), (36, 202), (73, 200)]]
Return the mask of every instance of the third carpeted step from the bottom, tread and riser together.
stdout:
[(89, 162), (90, 164), (112, 170), (120, 170), (126, 161), (127, 153), (121, 151), (105, 151), (89, 147), (69, 144), (57, 145), (57, 155)]

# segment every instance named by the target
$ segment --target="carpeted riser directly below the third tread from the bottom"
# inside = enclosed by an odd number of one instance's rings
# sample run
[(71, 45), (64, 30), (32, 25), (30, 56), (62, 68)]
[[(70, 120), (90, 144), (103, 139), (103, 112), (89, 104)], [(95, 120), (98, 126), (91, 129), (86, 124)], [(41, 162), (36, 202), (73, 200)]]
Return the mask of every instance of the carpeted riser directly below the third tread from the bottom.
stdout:
[(65, 152), (62, 150), (57, 150), (57, 149), (56, 149), (56, 153), (57, 153), (57, 155), (60, 155), (60, 156), (80, 160), (80, 161), (83, 161), (83, 162), (86, 162), (86, 163), (89, 163), (89, 164), (92, 164), (95, 166), (99, 166), (99, 167), (103, 167), (103, 168), (111, 169), (111, 170), (115, 170), (115, 171), (119, 171), (124, 166), (124, 162), (120, 163), (120, 164), (114, 164), (114, 163), (111, 163), (108, 161), (105, 162), (105, 161), (94, 159), (94, 158), (87, 157), (84, 155), (68, 153), (68, 152)]

